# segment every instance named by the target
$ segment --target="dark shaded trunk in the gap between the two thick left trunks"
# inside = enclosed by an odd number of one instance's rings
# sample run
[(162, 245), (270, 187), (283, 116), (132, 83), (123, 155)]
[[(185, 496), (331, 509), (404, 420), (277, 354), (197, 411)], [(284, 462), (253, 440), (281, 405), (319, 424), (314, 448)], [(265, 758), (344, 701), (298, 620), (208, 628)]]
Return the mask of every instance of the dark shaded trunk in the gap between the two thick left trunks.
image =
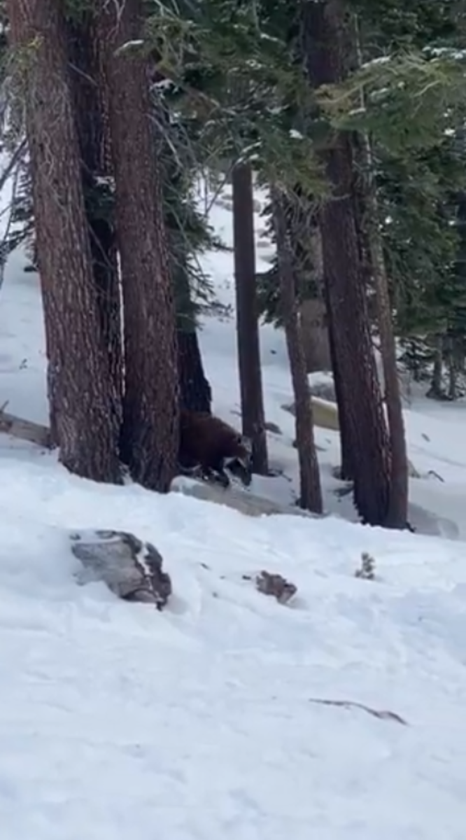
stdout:
[(122, 302), (110, 183), (113, 177), (111, 139), (105, 97), (102, 95), (102, 55), (93, 13), (82, 13), (79, 24), (68, 23), (68, 45), (97, 303), (120, 424), (123, 398)]

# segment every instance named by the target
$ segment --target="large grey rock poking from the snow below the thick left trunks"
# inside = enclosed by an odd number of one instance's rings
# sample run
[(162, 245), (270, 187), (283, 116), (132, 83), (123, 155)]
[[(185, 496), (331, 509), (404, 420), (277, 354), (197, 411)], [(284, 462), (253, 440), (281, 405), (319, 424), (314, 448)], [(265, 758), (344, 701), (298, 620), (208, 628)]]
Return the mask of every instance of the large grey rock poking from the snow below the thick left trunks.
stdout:
[(71, 551), (82, 564), (76, 575), (81, 585), (101, 580), (125, 601), (144, 601), (158, 610), (165, 606), (171, 580), (154, 545), (125, 531), (81, 531), (70, 539)]

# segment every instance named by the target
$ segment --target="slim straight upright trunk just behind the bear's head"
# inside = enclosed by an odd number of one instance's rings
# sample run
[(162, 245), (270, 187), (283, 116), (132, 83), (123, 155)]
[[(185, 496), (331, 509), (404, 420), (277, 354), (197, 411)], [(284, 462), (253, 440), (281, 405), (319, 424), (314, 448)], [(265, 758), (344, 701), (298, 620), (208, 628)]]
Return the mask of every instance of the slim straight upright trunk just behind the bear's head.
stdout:
[(244, 163), (238, 163), (233, 169), (233, 240), (243, 434), (253, 444), (254, 472), (267, 475), (269, 465), (255, 279), (253, 173), (250, 165)]

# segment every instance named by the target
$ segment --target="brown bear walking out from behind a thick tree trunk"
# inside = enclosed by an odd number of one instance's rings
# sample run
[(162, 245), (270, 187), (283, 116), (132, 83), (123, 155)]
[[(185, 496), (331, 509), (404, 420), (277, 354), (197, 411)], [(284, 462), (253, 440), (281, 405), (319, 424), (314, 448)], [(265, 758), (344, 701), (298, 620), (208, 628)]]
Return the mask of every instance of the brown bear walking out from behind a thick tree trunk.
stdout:
[(226, 470), (244, 486), (252, 480), (249, 439), (207, 412), (181, 410), (178, 462), (183, 473), (199, 471), (223, 487), (231, 484)]

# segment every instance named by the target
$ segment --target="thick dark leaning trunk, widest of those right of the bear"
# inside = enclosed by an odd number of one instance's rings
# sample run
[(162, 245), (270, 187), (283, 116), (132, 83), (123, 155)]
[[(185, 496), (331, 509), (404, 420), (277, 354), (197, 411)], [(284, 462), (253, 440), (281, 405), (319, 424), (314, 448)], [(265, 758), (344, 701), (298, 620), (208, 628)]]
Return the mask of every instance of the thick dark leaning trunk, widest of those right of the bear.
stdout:
[[(340, 0), (303, 4), (303, 47), (312, 87), (346, 74), (348, 29)], [(322, 161), (332, 199), (321, 211), (329, 316), (354, 480), (354, 502), (364, 522), (385, 525), (390, 506), (390, 441), (372, 349), (363, 265), (353, 202), (353, 149), (335, 134)]]

